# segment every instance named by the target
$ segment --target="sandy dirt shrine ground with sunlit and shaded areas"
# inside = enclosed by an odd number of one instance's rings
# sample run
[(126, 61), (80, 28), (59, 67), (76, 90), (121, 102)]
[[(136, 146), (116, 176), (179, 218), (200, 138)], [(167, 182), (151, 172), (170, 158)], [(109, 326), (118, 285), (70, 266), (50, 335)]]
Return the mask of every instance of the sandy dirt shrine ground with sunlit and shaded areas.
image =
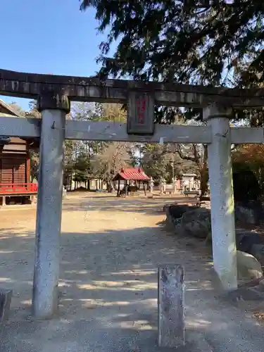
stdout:
[(157, 269), (163, 263), (185, 267), (187, 334), (201, 332), (212, 351), (264, 351), (258, 322), (215, 298), (205, 244), (160, 225), (163, 205), (171, 202), (70, 194), (63, 202), (60, 311), (49, 321), (30, 317), (35, 208), (0, 210), (0, 284), (13, 289), (0, 351), (159, 351)]

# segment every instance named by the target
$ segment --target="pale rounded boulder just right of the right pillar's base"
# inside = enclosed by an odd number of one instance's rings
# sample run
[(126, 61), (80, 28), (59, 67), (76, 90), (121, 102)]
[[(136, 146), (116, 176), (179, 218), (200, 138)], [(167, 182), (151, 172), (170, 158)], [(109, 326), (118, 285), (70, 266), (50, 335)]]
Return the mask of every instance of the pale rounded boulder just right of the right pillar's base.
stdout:
[(258, 260), (249, 253), (237, 251), (237, 277), (239, 280), (252, 280), (263, 277)]

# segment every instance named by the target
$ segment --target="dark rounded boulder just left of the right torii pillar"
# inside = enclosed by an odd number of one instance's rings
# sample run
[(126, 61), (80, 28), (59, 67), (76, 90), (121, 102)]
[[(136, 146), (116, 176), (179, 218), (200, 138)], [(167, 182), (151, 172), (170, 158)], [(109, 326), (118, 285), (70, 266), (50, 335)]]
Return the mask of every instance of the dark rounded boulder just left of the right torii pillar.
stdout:
[(210, 210), (196, 208), (185, 212), (180, 222), (182, 232), (199, 239), (207, 239), (211, 232)]

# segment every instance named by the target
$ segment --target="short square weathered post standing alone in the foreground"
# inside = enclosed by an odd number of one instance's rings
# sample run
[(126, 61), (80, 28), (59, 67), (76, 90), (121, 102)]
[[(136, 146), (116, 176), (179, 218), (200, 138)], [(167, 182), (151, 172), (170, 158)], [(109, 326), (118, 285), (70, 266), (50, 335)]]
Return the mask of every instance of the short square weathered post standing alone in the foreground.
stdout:
[(184, 268), (165, 265), (158, 268), (158, 345), (184, 344)]

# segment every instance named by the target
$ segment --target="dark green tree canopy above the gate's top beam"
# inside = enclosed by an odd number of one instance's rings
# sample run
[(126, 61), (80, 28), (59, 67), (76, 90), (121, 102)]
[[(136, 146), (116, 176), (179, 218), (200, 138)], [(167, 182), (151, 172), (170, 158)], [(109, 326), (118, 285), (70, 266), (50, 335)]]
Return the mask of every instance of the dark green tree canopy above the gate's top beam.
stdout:
[[(241, 0), (239, 6), (221, 3), (207, 9), (182, 2), (82, 0), (81, 9), (96, 8), (99, 31), (108, 32), (101, 43), (101, 73), (217, 87), (263, 85), (263, 1)], [(115, 54), (107, 59), (115, 41)], [(156, 113), (158, 122), (162, 117), (170, 122), (179, 111), (163, 108)], [(186, 116), (198, 113), (189, 109)], [(234, 117), (245, 115), (254, 125), (263, 124), (261, 109), (237, 111)]]

